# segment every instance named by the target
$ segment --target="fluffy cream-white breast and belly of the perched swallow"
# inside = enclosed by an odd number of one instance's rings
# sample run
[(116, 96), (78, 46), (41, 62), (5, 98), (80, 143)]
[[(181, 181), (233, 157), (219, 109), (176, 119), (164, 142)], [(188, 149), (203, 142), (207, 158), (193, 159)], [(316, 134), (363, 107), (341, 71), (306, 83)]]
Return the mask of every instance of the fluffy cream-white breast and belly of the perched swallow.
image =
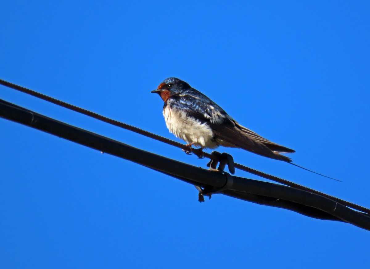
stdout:
[(216, 148), (211, 128), (193, 117), (188, 117), (184, 111), (166, 106), (163, 116), (168, 130), (176, 137), (188, 143), (194, 143), (202, 148)]

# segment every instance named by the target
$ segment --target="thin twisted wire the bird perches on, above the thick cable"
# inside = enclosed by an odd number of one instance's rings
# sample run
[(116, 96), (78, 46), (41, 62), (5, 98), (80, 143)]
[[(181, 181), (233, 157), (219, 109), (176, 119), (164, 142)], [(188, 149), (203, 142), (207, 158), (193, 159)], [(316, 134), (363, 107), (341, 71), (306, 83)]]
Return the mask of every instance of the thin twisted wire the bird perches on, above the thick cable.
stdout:
[[(137, 134), (145, 135), (147, 137), (156, 139), (158, 141), (167, 143), (169, 145), (172, 145), (172, 146), (175, 146), (175, 147), (184, 149), (184, 150), (188, 150), (189, 149), (189, 147), (187, 145), (184, 145), (184, 144), (181, 144), (179, 142), (173, 141), (171, 139), (162, 137), (160, 135), (153, 134), (151, 132), (148, 132), (148, 131), (142, 130), (140, 128), (134, 127), (132, 125), (129, 125), (129, 124), (126, 124), (126, 123), (123, 123), (123, 122), (120, 122), (120, 121), (116, 121), (116, 120), (113, 120), (111, 118), (104, 117), (104, 116), (99, 115), (99, 114), (97, 114), (95, 112), (86, 110), (84, 108), (77, 107), (77, 106), (72, 105), (72, 104), (68, 104), (66, 102), (60, 101), (60, 100), (55, 99), (53, 97), (50, 97), (48, 95), (38, 93), (37, 91), (33, 91), (33, 90), (30, 90), (30, 89), (21, 87), (19, 85), (10, 83), (8, 81), (5, 81), (5, 80), (0, 79), (0, 84), (4, 85), (6, 87), (12, 88), (14, 90), (21, 91), (23, 93), (30, 94), (30, 95), (32, 95), (34, 97), (43, 99), (43, 100), (48, 101), (48, 102), (51, 102), (53, 104), (60, 105), (61, 107), (65, 107), (65, 108), (68, 108), (70, 110), (79, 112), (81, 114), (90, 116), (90, 117), (95, 118), (97, 120), (101, 120), (101, 121), (107, 122), (109, 124), (112, 124), (112, 125), (115, 125), (115, 126), (124, 128), (124, 129), (129, 130), (129, 131), (132, 131), (132, 132), (136, 132)], [(207, 157), (209, 159), (213, 159), (213, 156), (211, 154), (207, 153), (207, 152), (204, 152), (203, 151), (202, 154), (203, 154), (204, 157)], [(366, 208), (366, 207), (363, 207), (363, 206), (360, 206), (360, 205), (353, 204), (351, 202), (342, 200), (340, 198), (331, 196), (329, 194), (325, 194), (323, 192), (316, 191), (316, 190), (311, 189), (311, 188), (307, 188), (307, 187), (305, 187), (303, 185), (296, 184), (294, 182), (288, 181), (286, 179), (279, 178), (277, 176), (266, 174), (266, 173), (261, 172), (261, 171), (258, 171), (256, 169), (253, 169), (253, 168), (250, 168), (250, 167), (246, 167), (245, 165), (242, 165), (242, 164), (234, 163), (234, 166), (236, 168), (239, 168), (240, 170), (249, 172), (251, 174), (254, 174), (254, 175), (257, 175), (257, 176), (261, 176), (263, 178), (270, 179), (272, 181), (279, 182), (281, 184), (284, 184), (284, 185), (287, 185), (287, 186), (290, 186), (290, 187), (293, 187), (293, 188), (302, 189), (302, 190), (307, 191), (307, 192), (312, 192), (314, 194), (318, 194), (318, 195), (324, 196), (326, 198), (332, 199), (333, 201), (339, 202), (342, 205), (349, 206), (349, 207), (351, 207), (353, 209), (357, 209), (359, 211), (366, 212), (366, 213), (370, 214), (370, 209), (369, 208)]]

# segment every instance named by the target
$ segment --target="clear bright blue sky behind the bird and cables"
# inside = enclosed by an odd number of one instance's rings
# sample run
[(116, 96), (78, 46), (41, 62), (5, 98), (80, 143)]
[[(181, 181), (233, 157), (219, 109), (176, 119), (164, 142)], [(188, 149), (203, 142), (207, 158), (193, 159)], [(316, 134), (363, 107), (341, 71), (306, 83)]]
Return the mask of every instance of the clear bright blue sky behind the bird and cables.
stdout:
[[(0, 77), (159, 135), (176, 76), (296, 164), (235, 161), (370, 207), (369, 1), (3, 1)], [(192, 165), (207, 160), (0, 87), (0, 98)], [(367, 268), (370, 233), (214, 195), (0, 119), (1, 268)], [(177, 140), (177, 139), (176, 139)], [(177, 140), (179, 141), (179, 140)], [(236, 175), (258, 179), (246, 172)]]

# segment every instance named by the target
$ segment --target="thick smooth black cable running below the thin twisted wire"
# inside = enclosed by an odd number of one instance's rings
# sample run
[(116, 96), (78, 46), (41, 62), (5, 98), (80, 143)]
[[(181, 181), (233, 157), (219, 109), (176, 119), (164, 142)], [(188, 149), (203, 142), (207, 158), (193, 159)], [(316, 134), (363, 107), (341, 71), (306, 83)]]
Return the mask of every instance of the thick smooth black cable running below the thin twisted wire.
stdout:
[[(0, 117), (48, 132), (81, 145), (174, 176), (190, 184), (220, 188), (226, 184), (225, 175), (184, 164), (113, 139), (94, 134), (36, 112), (0, 100)], [(370, 217), (320, 195), (288, 186), (252, 179), (232, 177), (233, 185), (222, 194), (258, 204), (290, 209), (313, 218), (352, 223), (370, 231)]]

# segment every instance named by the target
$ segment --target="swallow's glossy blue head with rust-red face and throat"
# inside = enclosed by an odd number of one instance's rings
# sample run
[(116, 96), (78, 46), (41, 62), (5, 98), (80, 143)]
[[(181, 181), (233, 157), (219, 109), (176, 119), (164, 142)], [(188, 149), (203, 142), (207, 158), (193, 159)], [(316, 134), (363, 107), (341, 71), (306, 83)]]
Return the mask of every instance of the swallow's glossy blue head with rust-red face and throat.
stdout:
[(185, 81), (182, 81), (178, 78), (169, 77), (158, 85), (157, 90), (151, 91), (151, 93), (158, 93), (162, 100), (166, 102), (167, 99), (172, 95), (181, 94), (190, 88), (190, 85)]

